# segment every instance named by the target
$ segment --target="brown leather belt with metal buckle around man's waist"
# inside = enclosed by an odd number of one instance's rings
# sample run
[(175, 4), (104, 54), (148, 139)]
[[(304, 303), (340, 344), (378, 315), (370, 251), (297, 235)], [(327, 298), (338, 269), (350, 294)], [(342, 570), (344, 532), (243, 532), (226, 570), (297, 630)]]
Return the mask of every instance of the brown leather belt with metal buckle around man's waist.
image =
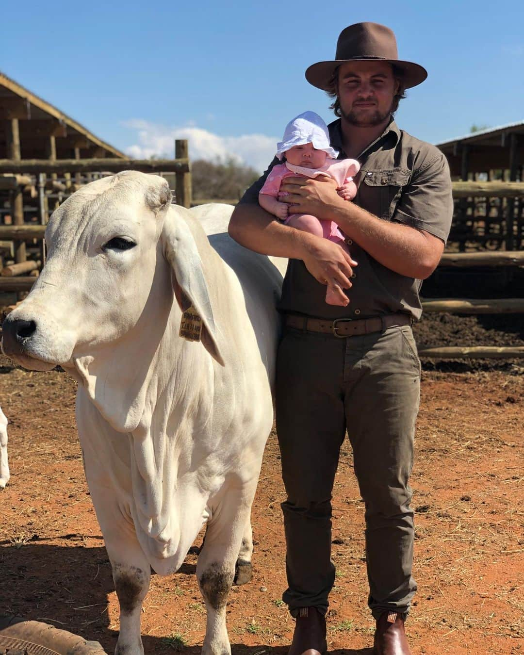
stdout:
[(383, 314), (373, 318), (337, 318), (334, 321), (322, 318), (307, 318), (297, 314), (286, 314), (284, 324), (305, 332), (324, 332), (335, 337), (358, 337), (371, 332), (383, 332), (388, 327), (409, 326), (413, 322), (409, 314)]

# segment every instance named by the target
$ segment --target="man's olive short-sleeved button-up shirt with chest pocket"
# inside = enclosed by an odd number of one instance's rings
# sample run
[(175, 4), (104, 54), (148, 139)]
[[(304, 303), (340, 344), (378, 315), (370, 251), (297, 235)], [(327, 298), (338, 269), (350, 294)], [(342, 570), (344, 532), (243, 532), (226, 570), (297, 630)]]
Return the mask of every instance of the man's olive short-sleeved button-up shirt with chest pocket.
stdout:
[[(333, 121), (328, 127), (331, 145), (340, 151), (339, 159), (346, 159), (341, 121)], [(384, 221), (404, 223), (446, 241), (453, 198), (447, 160), (438, 148), (399, 130), (391, 121), (382, 136), (357, 159), (362, 168), (352, 202)], [(269, 171), (279, 163), (275, 157), (263, 176), (244, 193), (240, 204), (257, 204)], [(303, 261), (290, 259), (278, 309), (326, 320), (396, 312), (410, 313), (418, 320), (422, 314), (421, 280), (388, 269), (351, 239), (346, 244), (358, 262), (353, 286), (346, 290), (350, 299), (347, 307), (327, 305), (326, 286), (315, 280)]]

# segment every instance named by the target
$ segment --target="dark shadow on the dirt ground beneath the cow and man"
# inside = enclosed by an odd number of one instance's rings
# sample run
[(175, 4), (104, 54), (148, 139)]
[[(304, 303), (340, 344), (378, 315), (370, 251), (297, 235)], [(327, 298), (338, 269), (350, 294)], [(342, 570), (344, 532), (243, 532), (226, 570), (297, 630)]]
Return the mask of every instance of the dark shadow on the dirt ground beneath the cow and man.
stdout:
[[(63, 542), (64, 538), (73, 540), (75, 545), (53, 546), (39, 544), (37, 540), (22, 544), (0, 541), (0, 614), (21, 616), (70, 631), (88, 641), (100, 642), (112, 654), (118, 632), (109, 628), (107, 596), (115, 586), (105, 548), (81, 545), (82, 534), (64, 534), (57, 540)], [(195, 565), (184, 563), (179, 572), (193, 575)], [(143, 635), (142, 639), (147, 654), (174, 652), (161, 637)], [(264, 644), (232, 643), (231, 649), (233, 655), (286, 655), (288, 652), (288, 646)], [(200, 650), (201, 645), (185, 646), (182, 652), (199, 655)], [(330, 655), (370, 655), (371, 652), (369, 648), (329, 651)]]

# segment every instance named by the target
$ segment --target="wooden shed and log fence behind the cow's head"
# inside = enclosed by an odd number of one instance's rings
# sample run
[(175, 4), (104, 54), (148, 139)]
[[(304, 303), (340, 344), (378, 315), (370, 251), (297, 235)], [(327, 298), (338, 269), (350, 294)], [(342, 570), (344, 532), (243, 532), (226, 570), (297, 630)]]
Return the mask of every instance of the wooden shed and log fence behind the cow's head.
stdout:
[(28, 291), (45, 263), (50, 214), (95, 179), (162, 173), (177, 202), (191, 206), (187, 140), (175, 159), (132, 160), (64, 112), (0, 73), (0, 293)]

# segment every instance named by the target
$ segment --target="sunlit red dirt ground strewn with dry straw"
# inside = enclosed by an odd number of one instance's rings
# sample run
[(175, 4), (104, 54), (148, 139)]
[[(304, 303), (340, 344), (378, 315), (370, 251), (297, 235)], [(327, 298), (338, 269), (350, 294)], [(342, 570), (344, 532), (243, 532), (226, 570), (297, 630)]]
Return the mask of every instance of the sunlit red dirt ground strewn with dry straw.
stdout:
[[(0, 364), (12, 474), (0, 491), (0, 614), (68, 629), (112, 653), (119, 612), (83, 474), (75, 384), (59, 371)], [(419, 592), (406, 624), (414, 655), (524, 654), (524, 384), (516, 368), (422, 373), (411, 482)], [(272, 434), (253, 505), (253, 580), (234, 588), (228, 605), (234, 655), (284, 655), (290, 643), (293, 620), (280, 601), (283, 499)], [(364, 506), (348, 443), (333, 508), (329, 652), (370, 654)], [(142, 615), (146, 653), (199, 652), (205, 612), (195, 562), (188, 555), (177, 574), (153, 576)]]

